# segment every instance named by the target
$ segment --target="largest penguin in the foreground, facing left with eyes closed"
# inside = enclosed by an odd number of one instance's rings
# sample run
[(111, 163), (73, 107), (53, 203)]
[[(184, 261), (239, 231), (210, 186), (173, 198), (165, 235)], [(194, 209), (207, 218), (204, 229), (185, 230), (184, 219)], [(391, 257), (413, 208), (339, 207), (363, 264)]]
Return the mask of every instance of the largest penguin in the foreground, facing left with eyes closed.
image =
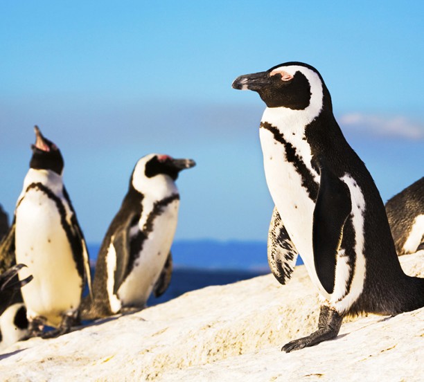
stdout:
[(380, 194), (333, 115), (323, 78), (287, 62), (234, 80), (256, 91), (265, 178), (275, 204), (268, 260), (276, 279), (290, 279), (301, 254), (321, 300), (317, 331), (285, 352), (335, 338), (346, 315), (395, 315), (424, 306), (424, 279), (405, 275)]

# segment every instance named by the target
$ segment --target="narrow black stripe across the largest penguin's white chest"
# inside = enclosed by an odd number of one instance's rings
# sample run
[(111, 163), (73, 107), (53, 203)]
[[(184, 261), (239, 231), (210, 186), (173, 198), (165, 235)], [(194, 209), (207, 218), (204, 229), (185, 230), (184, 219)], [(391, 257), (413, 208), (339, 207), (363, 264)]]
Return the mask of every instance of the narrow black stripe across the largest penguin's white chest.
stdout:
[[(279, 131), (279, 129), (277, 129), (270, 123), (260, 122), (260, 127), (262, 129), (270, 131), (274, 135), (274, 139), (284, 146), (286, 160), (292, 163), (296, 171), (300, 174), (302, 186), (308, 192), (310, 199), (312, 199), (312, 201), (316, 201), (319, 185), (317, 182), (315, 182), (312, 173), (310, 172), (308, 167), (306, 167), (306, 164), (302, 160), (301, 156), (297, 154), (296, 147), (294, 147), (290, 142), (287, 142), (283, 134), (281, 134), (281, 132)], [(303, 137), (303, 139), (306, 138)]]

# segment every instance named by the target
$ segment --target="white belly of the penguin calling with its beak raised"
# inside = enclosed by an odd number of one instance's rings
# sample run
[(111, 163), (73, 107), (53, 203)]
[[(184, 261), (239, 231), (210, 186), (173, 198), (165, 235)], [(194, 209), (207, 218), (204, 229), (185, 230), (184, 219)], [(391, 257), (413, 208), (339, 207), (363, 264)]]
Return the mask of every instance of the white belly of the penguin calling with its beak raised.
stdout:
[(57, 206), (44, 192), (26, 193), (17, 208), (15, 235), (16, 260), (28, 266), (19, 278), (33, 275), (21, 289), (28, 317), (43, 316), (58, 326), (62, 313), (78, 309), (82, 280)]

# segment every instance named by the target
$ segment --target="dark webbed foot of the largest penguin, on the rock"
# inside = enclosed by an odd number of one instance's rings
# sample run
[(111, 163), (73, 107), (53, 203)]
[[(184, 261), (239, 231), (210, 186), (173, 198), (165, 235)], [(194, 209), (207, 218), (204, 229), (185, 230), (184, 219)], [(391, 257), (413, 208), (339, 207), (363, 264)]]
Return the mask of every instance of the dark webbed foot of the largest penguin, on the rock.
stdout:
[(337, 337), (340, 327), (342, 326), (343, 316), (337, 311), (323, 305), (319, 313), (318, 330), (314, 331), (310, 336), (292, 340), (286, 343), (281, 351), (290, 353), (293, 350), (303, 349), (303, 347), (317, 345), (323, 341), (331, 340)]

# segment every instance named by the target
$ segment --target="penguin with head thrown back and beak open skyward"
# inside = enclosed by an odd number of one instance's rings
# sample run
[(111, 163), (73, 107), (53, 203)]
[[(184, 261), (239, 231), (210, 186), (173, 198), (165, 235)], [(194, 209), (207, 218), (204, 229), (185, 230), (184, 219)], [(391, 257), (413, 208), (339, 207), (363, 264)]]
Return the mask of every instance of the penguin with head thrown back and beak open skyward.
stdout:
[[(34, 130), (30, 169), (10, 231), (14, 233), (16, 262), (28, 265), (19, 278), (34, 277), (21, 290), (29, 336), (52, 338), (69, 332), (78, 322), (83, 286), (86, 280), (89, 288), (91, 284), (89, 255), (64, 187), (60, 149), (37, 126)], [(46, 325), (55, 329), (43, 333)]]

